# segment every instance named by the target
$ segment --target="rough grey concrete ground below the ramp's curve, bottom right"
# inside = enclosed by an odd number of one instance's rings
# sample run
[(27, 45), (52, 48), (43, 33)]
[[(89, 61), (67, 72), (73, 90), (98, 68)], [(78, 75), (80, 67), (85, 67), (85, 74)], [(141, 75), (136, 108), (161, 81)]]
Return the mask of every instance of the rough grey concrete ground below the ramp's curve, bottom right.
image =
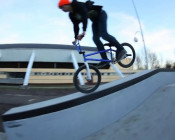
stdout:
[(84, 140), (175, 140), (175, 84), (158, 89), (121, 120)]

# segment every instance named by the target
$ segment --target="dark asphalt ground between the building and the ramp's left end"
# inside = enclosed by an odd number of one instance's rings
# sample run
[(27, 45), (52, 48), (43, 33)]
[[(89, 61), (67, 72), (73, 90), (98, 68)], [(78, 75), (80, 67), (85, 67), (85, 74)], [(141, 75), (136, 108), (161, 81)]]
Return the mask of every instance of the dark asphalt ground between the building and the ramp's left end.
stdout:
[[(11, 108), (37, 103), (77, 92), (72, 85), (6, 86), (0, 85), (0, 116)], [(0, 132), (4, 132), (0, 117)], [(1, 140), (1, 139), (0, 139)]]

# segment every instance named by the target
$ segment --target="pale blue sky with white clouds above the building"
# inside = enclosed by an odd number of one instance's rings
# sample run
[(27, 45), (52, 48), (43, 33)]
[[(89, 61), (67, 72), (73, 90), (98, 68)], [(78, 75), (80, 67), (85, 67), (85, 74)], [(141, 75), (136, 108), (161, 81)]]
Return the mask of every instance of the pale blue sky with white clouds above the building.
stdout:
[[(81, 0), (83, 1), (83, 0)], [(108, 14), (108, 31), (116, 39), (143, 51), (140, 30), (131, 0), (94, 0)], [(58, 0), (0, 0), (0, 44), (69, 44), (74, 40), (68, 14), (57, 8)], [(167, 60), (175, 60), (175, 0), (135, 0), (146, 48)], [(95, 46), (91, 21), (81, 42)]]

